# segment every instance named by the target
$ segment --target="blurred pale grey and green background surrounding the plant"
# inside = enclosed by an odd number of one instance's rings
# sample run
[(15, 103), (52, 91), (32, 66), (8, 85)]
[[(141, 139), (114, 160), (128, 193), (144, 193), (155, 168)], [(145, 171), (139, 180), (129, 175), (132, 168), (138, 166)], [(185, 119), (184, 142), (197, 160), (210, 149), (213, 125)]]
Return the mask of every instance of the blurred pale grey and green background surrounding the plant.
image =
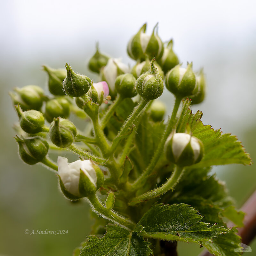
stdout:
[[(72, 255), (84, 241), (92, 221), (85, 203), (72, 204), (60, 193), (57, 177), (40, 165), (28, 166), (17, 155), (12, 125), (17, 116), (8, 91), (36, 84), (46, 90), (42, 65), (74, 70), (95, 81), (86, 62), (99, 41), (112, 57), (126, 54), (130, 37), (148, 22), (151, 33), (174, 39), (184, 66), (204, 67), (205, 101), (193, 107), (204, 112), (204, 124), (236, 134), (256, 159), (256, 4), (255, 1), (67, 1), (9, 0), (0, 8), (0, 255)], [(169, 111), (172, 95), (162, 100)], [(52, 155), (56, 160), (57, 155)], [(214, 167), (240, 207), (256, 188), (255, 166)], [(68, 230), (64, 235), (26, 235), (31, 230)], [(197, 255), (198, 246), (180, 243), (179, 255)], [(188, 253), (189, 251), (189, 253)], [(256, 244), (252, 244), (255, 255)]]

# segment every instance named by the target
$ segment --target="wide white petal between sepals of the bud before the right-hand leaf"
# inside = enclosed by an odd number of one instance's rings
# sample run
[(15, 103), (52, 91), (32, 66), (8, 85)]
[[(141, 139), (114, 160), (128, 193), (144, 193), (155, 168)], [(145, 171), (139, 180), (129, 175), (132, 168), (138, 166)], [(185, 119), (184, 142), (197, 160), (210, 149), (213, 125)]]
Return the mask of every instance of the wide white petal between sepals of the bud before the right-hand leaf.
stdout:
[(190, 141), (191, 135), (187, 133), (175, 133), (172, 139), (172, 153), (177, 161)]

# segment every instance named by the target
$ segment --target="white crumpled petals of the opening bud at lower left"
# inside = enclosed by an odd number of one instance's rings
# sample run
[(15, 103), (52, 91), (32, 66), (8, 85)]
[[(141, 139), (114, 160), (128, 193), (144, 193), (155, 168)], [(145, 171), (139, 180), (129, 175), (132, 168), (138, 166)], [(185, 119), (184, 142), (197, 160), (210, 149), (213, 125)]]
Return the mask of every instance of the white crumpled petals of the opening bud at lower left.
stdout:
[(58, 156), (60, 179), (68, 193), (78, 197), (81, 197), (79, 192), (80, 170), (89, 178), (96, 190), (97, 175), (90, 160), (77, 160), (68, 164), (66, 157)]

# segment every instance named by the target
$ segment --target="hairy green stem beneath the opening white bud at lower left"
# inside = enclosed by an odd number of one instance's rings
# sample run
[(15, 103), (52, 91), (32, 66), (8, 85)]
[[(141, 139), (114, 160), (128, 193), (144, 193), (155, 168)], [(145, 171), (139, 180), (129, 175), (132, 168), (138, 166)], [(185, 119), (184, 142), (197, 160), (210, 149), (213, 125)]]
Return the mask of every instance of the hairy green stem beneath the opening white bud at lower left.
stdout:
[(117, 215), (111, 210), (107, 210), (107, 208), (102, 204), (102, 202), (100, 202), (99, 198), (95, 194), (88, 196), (88, 199), (91, 202), (94, 211), (102, 214), (108, 220), (121, 224), (131, 230), (135, 228), (135, 224), (131, 220), (125, 219), (123, 216)]

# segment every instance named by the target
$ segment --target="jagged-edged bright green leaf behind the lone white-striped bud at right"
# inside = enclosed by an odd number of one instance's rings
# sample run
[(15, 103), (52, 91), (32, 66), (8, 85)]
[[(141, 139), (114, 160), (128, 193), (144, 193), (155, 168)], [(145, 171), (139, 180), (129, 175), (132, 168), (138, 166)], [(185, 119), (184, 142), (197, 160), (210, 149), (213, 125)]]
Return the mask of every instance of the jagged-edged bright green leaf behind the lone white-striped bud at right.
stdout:
[(189, 100), (183, 102), (176, 132), (185, 132), (186, 125), (189, 124), (193, 136), (202, 140), (204, 157), (194, 167), (200, 168), (220, 164), (251, 164), (250, 155), (245, 152), (236, 136), (221, 134), (220, 129), (214, 131), (210, 125), (204, 125), (201, 121), (203, 113), (198, 110), (196, 114), (193, 114), (189, 105)]

